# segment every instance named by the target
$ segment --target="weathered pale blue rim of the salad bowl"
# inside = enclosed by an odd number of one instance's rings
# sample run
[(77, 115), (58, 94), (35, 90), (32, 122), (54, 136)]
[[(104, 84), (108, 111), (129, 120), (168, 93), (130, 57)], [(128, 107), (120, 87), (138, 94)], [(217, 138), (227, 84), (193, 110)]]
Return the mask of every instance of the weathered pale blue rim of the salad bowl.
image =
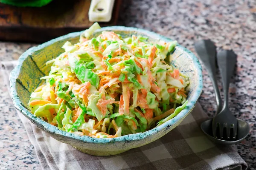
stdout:
[[(163, 35), (154, 33), (152, 31), (147, 31), (141, 28), (134, 28), (134, 27), (125, 27), (125, 26), (108, 26), (108, 27), (103, 27), (99, 30), (96, 30), (95, 32), (99, 31), (110, 31), (110, 30), (116, 30), (116, 31), (135, 31), (138, 33), (142, 33), (145, 35), (150, 35), (150, 37), (155, 38), (155, 40), (163, 40), (165, 42), (173, 41), (170, 38), (164, 37)], [(33, 54), (35, 51), (41, 50), (42, 48), (45, 48), (49, 45), (52, 45), (55, 42), (58, 42), (60, 40), (64, 40), (67, 38), (72, 38), (72, 37), (77, 37), (79, 36), (83, 31), (79, 32), (73, 32), (58, 38), (55, 38), (53, 40), (50, 40), (48, 42), (45, 42), (41, 45), (29, 48), (27, 51), (25, 51), (20, 58), (18, 59), (18, 65), (12, 70), (10, 74), (10, 89), (11, 89), (11, 96), (12, 100), (14, 103), (15, 108), (23, 113), (24, 116), (29, 118), (33, 123), (37, 122), (38, 124), (42, 125), (44, 127), (44, 130), (49, 132), (49, 133), (54, 133), (58, 134), (61, 136), (65, 136), (68, 138), (76, 139), (82, 142), (87, 142), (87, 143), (98, 143), (98, 144), (107, 144), (107, 143), (114, 143), (114, 142), (130, 142), (130, 141), (136, 141), (136, 140), (141, 140), (145, 139), (148, 136), (151, 136), (154, 133), (157, 133), (160, 130), (163, 130), (166, 127), (170, 127), (172, 125), (175, 125), (180, 119), (182, 119), (184, 116), (186, 116), (189, 111), (194, 108), (195, 103), (197, 102), (201, 91), (203, 89), (203, 77), (202, 77), (202, 67), (200, 62), (198, 61), (198, 58), (193, 54), (191, 51), (189, 51), (187, 48), (181, 46), (180, 44), (177, 44), (177, 47), (179, 47), (182, 51), (186, 52), (189, 57), (191, 57), (192, 61), (194, 62), (195, 69), (198, 72), (198, 85), (197, 88), (194, 89), (195, 93), (193, 96), (191, 96), (190, 101), (187, 103), (186, 108), (184, 108), (177, 116), (174, 118), (170, 119), (169, 121), (163, 123), (162, 125), (155, 127), (151, 130), (148, 130), (143, 133), (135, 133), (135, 134), (130, 134), (130, 135), (125, 135), (125, 136), (120, 136), (116, 138), (93, 138), (90, 136), (79, 136), (74, 133), (69, 133), (63, 130), (59, 130), (58, 127), (55, 127), (53, 125), (50, 125), (49, 123), (43, 121), (42, 119), (34, 116), (29, 110), (27, 110), (22, 104), (19, 99), (19, 96), (17, 95), (17, 90), (16, 90), (16, 79), (20, 74), (21, 71), (21, 66), (23, 64), (23, 61), (29, 57), (29, 55)]]

